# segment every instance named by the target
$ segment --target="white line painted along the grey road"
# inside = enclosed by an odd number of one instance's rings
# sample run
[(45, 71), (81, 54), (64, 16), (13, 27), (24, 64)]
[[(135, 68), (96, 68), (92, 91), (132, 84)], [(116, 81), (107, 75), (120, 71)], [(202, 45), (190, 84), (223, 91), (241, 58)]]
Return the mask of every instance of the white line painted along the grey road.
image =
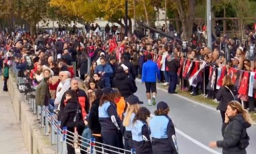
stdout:
[[(150, 117), (155, 117), (154, 114), (150, 114)], [(209, 151), (210, 153), (214, 153), (214, 154), (221, 154), (218, 151), (215, 151), (214, 149), (211, 149), (210, 147), (207, 147), (206, 145), (203, 145), (203, 143), (197, 141), (196, 139), (193, 139), (192, 137), (190, 137), (189, 135), (185, 134), (183, 131), (175, 128), (175, 132), (179, 133), (179, 135), (185, 137), (186, 139), (188, 139), (189, 141), (195, 143), (195, 145), (198, 145), (199, 147), (205, 149), (206, 151)], [(178, 147), (179, 147), (179, 141), (178, 141)]]

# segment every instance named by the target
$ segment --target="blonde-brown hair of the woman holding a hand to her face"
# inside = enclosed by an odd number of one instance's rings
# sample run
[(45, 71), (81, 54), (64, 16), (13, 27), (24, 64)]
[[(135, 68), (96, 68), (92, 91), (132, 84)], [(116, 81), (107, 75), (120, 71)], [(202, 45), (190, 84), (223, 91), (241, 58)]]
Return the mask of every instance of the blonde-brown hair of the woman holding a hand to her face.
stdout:
[(232, 100), (231, 102), (228, 102), (228, 105), (232, 108), (232, 110), (236, 110), (237, 114), (243, 114), (243, 118), (245, 119), (245, 121), (253, 125), (253, 120), (251, 119), (251, 115), (247, 110), (243, 109), (240, 102), (237, 102), (236, 100)]

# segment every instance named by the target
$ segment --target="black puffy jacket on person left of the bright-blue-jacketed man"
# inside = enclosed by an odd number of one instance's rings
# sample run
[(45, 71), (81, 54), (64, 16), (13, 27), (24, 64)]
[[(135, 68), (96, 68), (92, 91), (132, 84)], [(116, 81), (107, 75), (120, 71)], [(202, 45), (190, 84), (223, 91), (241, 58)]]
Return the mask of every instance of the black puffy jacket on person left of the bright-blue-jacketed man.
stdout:
[(131, 79), (125, 74), (125, 72), (117, 72), (113, 79), (113, 87), (118, 88), (121, 96), (128, 98), (135, 92), (135, 85), (131, 82)]

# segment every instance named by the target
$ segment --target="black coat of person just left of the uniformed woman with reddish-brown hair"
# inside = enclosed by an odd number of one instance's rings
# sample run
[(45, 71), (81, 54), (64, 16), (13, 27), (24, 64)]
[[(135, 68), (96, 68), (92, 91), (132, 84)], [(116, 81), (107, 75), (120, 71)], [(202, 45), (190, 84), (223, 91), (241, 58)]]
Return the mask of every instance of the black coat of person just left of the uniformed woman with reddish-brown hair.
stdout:
[(92, 134), (100, 134), (101, 131), (100, 122), (98, 121), (98, 106), (100, 106), (99, 98), (92, 102), (88, 117), (88, 127), (92, 131)]

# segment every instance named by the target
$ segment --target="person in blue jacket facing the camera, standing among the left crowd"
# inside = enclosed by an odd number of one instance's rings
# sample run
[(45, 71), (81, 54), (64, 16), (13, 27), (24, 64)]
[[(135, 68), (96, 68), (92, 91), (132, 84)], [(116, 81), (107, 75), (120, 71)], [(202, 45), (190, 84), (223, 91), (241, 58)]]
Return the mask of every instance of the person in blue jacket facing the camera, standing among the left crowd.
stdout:
[(106, 64), (104, 57), (100, 58), (100, 65), (96, 66), (94, 74), (98, 73), (105, 80), (105, 87), (110, 87), (110, 76), (113, 75), (113, 70), (109, 64)]

